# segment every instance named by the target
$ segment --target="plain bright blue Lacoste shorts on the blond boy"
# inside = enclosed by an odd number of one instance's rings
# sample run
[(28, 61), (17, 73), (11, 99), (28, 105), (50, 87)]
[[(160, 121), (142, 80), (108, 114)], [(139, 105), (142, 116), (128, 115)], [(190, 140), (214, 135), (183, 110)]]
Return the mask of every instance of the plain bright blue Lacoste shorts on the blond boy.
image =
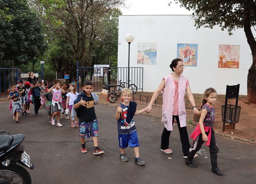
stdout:
[(127, 134), (118, 134), (118, 140), (120, 148), (127, 148), (128, 143), (130, 148), (140, 146), (137, 131)]

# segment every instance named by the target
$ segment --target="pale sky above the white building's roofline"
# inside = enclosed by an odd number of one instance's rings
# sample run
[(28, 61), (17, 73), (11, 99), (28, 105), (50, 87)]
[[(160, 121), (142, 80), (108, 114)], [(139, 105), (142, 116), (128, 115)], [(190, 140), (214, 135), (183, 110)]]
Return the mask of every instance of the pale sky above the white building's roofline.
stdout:
[[(168, 6), (168, 3), (170, 3)], [(126, 0), (128, 9), (120, 8), (123, 15), (190, 15), (193, 12), (175, 4), (173, 0)]]

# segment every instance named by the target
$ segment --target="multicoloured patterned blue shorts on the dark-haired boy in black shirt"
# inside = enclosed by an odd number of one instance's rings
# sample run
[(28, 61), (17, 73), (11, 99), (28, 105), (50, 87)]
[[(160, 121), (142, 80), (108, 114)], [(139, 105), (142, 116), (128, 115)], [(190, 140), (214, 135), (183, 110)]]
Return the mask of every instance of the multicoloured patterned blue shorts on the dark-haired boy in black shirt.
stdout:
[(99, 129), (98, 129), (98, 121), (97, 119), (91, 123), (79, 123), (80, 135), (79, 137), (87, 137), (90, 136), (98, 137), (99, 136)]

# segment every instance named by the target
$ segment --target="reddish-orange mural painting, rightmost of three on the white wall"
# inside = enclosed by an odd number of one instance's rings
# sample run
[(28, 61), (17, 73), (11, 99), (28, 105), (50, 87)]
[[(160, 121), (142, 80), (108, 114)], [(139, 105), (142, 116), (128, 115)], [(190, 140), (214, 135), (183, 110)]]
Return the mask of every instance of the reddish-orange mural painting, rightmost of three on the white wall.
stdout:
[(219, 68), (239, 68), (240, 45), (219, 45)]

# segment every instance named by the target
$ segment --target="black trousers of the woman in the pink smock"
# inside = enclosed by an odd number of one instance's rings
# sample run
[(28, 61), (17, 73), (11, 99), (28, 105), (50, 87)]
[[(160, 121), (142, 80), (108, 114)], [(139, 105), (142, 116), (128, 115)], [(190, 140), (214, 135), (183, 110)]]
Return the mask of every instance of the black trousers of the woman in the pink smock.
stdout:
[[(190, 144), (189, 144), (189, 140), (188, 140), (188, 134), (187, 134), (187, 127), (186, 126), (181, 127), (179, 116), (172, 116), (172, 125), (174, 123), (174, 118), (176, 118), (178, 128), (179, 128), (179, 132), (180, 132), (182, 152), (183, 152), (184, 156), (187, 156), (188, 155), (188, 150), (190, 148)], [(166, 150), (166, 149), (169, 148), (170, 134), (171, 134), (171, 131), (168, 131), (166, 129), (166, 127), (163, 128), (163, 133), (162, 133), (162, 136), (161, 136), (161, 149), (162, 150)]]

